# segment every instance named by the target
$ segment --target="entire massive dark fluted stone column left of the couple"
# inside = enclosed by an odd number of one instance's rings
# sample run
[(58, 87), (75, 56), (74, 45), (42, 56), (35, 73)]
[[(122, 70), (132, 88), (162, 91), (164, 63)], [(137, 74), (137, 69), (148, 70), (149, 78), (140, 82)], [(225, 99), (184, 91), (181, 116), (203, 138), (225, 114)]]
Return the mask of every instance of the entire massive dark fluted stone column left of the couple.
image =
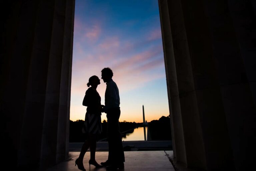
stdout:
[(4, 4), (0, 110), (12, 168), (44, 170), (68, 156), (74, 7), (74, 0)]

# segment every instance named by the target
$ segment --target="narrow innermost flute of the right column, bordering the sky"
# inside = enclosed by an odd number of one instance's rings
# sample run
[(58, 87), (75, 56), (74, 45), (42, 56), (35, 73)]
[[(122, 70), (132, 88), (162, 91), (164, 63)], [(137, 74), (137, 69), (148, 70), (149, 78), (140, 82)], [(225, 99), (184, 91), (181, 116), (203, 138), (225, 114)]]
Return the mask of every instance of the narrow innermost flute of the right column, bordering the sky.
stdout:
[(167, 1), (159, 1), (174, 160), (186, 165), (183, 123)]

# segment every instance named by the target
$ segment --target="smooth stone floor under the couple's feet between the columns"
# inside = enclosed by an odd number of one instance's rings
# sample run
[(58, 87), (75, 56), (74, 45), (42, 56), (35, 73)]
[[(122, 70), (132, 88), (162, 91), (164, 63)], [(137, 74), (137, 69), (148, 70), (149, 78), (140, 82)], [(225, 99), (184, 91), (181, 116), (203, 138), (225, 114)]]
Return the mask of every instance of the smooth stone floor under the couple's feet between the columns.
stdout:
[[(122, 171), (175, 171), (169, 156), (173, 155), (173, 151), (125, 151), (125, 163)], [(69, 160), (61, 162), (47, 171), (79, 171), (75, 166), (75, 159), (79, 156), (79, 152), (69, 152)], [(105, 162), (108, 158), (108, 152), (96, 152), (96, 160), (98, 163)], [(105, 171), (106, 168), (89, 167), (90, 152), (86, 152), (84, 156), (84, 168), (87, 171)]]

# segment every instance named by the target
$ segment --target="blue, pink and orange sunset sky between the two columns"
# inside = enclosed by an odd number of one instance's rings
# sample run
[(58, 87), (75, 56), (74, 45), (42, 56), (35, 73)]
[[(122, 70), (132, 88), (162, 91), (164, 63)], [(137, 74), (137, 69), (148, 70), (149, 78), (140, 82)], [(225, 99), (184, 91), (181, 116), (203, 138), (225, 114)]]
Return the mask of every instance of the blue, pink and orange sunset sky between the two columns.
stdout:
[[(142, 105), (148, 122), (169, 115), (157, 0), (76, 0), (70, 120), (84, 120), (86, 84), (104, 67), (119, 88), (120, 122), (143, 122)], [(101, 79), (102, 104), (105, 89)]]

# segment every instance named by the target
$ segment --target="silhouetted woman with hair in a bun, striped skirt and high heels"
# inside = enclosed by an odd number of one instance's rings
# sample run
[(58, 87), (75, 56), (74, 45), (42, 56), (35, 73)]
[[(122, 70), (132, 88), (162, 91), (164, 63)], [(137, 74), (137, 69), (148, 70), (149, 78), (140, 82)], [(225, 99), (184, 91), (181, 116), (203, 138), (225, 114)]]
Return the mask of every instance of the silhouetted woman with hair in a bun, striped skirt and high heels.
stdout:
[(96, 141), (98, 135), (102, 132), (101, 128), (101, 98), (97, 92), (97, 86), (100, 84), (100, 79), (94, 75), (89, 78), (87, 86), (91, 86), (87, 89), (83, 106), (87, 106), (87, 111), (85, 114), (85, 121), (83, 126), (83, 133), (86, 134), (86, 141), (84, 142), (80, 155), (75, 161), (75, 165), (78, 166), (78, 169), (85, 171), (83, 165), (83, 158), (90, 147), (91, 158), (89, 160), (89, 165), (94, 165), (95, 167), (102, 167), (95, 160), (95, 151), (96, 151)]

